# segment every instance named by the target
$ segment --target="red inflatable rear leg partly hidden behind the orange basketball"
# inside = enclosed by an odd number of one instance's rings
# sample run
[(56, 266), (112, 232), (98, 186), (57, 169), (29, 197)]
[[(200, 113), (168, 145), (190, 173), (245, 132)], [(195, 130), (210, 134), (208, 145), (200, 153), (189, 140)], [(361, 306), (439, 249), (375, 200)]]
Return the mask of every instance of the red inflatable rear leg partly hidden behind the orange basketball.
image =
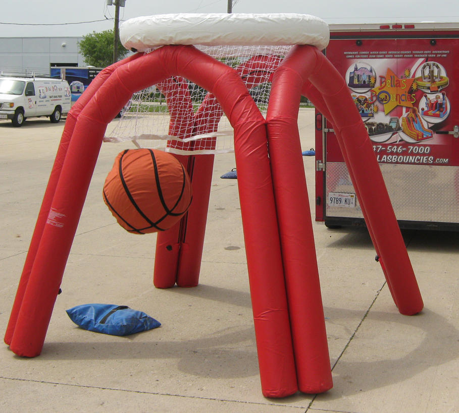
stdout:
[[(171, 121), (169, 134), (181, 139), (196, 133), (207, 133), (214, 124), (210, 117), (203, 124), (208, 99), (195, 115), (192, 109), (188, 83), (183, 78), (170, 78), (158, 86), (166, 96)], [(215, 98), (214, 98), (215, 99)], [(180, 102), (181, 104), (178, 104)], [(219, 115), (219, 119), (223, 111)], [(218, 121), (216, 123), (218, 125)], [(196, 130), (196, 125), (201, 125)], [(177, 148), (186, 150), (192, 142), (178, 142)], [(175, 155), (185, 166), (193, 187), (193, 202), (185, 216), (173, 228), (158, 233), (153, 282), (158, 288), (175, 285), (193, 287), (199, 281), (199, 269), (204, 243), (207, 211), (212, 180), (213, 155)], [(209, 181), (209, 182), (208, 182)]]

